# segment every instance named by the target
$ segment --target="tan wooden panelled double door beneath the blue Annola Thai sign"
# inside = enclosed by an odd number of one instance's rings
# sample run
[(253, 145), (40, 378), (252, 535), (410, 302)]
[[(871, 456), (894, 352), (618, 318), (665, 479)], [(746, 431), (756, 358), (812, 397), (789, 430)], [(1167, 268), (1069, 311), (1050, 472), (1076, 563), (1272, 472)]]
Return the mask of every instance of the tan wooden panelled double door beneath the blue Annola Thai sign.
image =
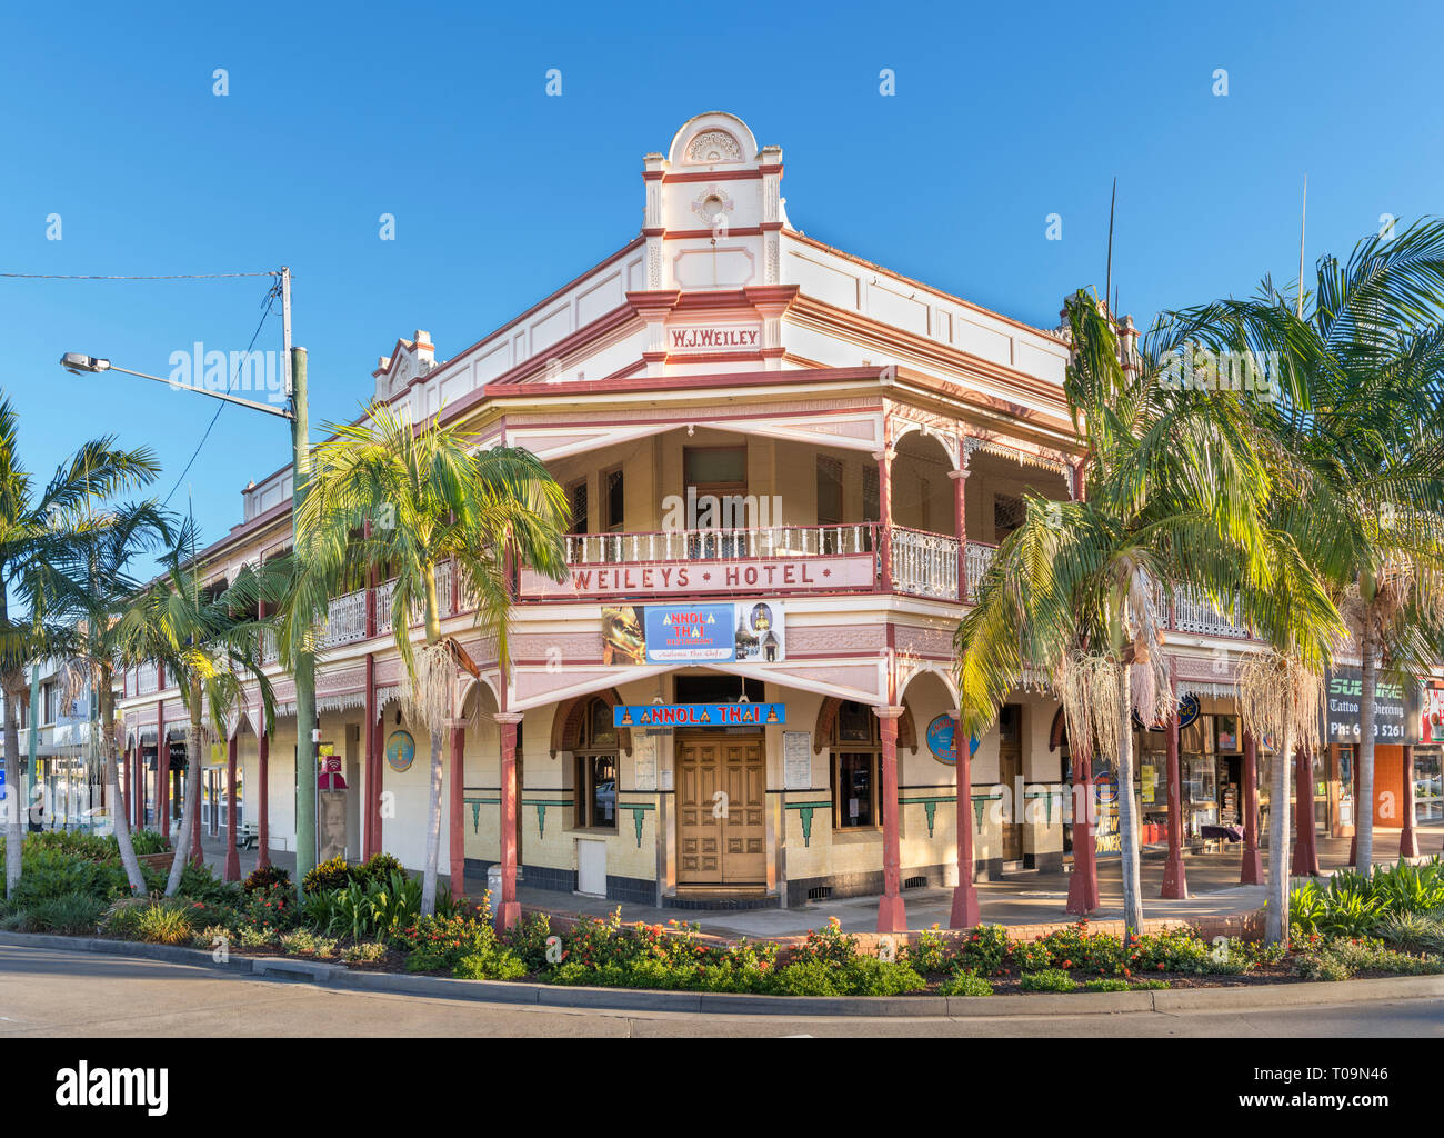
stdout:
[(767, 882), (762, 739), (677, 737), (677, 884)]

